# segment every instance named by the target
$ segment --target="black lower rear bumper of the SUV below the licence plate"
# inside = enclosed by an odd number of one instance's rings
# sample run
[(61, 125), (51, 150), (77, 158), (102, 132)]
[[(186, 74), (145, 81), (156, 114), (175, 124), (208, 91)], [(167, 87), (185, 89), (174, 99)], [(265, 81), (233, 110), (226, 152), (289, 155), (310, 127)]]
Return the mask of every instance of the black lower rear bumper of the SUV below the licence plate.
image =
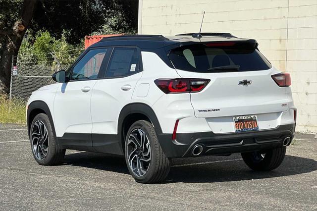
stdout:
[(168, 158), (193, 157), (192, 149), (200, 144), (204, 150), (200, 156), (252, 152), (281, 147), (283, 140), (294, 137), (294, 124), (280, 125), (275, 129), (214, 134), (177, 133), (176, 140), (172, 134), (158, 134), (159, 144)]

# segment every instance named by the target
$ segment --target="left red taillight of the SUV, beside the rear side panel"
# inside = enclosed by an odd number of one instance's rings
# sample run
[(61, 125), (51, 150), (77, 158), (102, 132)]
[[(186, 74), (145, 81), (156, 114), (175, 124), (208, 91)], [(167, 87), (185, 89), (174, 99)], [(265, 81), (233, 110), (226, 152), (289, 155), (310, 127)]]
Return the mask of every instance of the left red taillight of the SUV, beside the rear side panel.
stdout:
[(200, 92), (209, 82), (209, 79), (198, 78), (157, 79), (154, 81), (165, 94)]

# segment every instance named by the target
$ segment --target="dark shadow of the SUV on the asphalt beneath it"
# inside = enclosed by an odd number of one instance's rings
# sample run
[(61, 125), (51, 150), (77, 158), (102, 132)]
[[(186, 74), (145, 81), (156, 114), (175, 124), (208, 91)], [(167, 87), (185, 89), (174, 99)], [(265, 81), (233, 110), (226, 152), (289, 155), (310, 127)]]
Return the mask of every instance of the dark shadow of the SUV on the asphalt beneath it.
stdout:
[[(211, 183), (211, 182), (230, 182), (252, 179), (264, 179), (272, 177), (291, 176), (296, 174), (308, 173), (317, 170), (317, 161), (310, 158), (296, 156), (285, 156), (282, 164), (266, 172), (251, 170), (242, 159), (230, 161), (208, 162), (215, 157), (202, 157), (204, 162), (196, 158), (199, 164), (186, 163), (182, 160), (181, 165), (171, 166), (170, 173), (165, 183), (188, 182), (188, 183)], [(217, 158), (217, 157), (216, 157)], [(237, 158), (236, 156), (234, 158)], [(239, 158), (241, 158), (239, 156)], [(205, 163), (207, 161), (207, 163)], [(129, 174), (125, 159), (123, 157), (79, 152), (65, 155), (64, 165), (74, 165), (87, 168), (94, 168), (105, 171), (114, 171)]]

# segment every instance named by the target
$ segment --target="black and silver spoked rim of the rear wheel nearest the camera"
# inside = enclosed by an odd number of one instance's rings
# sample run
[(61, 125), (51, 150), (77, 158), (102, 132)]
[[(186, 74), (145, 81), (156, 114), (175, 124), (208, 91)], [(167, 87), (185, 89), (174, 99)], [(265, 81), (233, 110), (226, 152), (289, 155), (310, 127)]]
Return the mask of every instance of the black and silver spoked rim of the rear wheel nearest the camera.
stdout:
[(127, 155), (130, 168), (137, 176), (147, 173), (151, 162), (151, 146), (148, 136), (139, 128), (134, 129), (127, 140)]

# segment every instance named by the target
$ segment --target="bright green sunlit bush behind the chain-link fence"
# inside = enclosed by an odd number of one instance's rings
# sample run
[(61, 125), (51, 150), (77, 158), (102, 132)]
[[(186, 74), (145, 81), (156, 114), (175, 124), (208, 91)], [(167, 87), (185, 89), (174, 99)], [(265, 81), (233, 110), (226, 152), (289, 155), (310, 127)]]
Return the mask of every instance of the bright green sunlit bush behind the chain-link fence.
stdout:
[(70, 65), (83, 51), (83, 44), (71, 45), (66, 41), (64, 31), (60, 39), (48, 31), (40, 31), (35, 37), (27, 36), (22, 41), (19, 61), (25, 64)]

